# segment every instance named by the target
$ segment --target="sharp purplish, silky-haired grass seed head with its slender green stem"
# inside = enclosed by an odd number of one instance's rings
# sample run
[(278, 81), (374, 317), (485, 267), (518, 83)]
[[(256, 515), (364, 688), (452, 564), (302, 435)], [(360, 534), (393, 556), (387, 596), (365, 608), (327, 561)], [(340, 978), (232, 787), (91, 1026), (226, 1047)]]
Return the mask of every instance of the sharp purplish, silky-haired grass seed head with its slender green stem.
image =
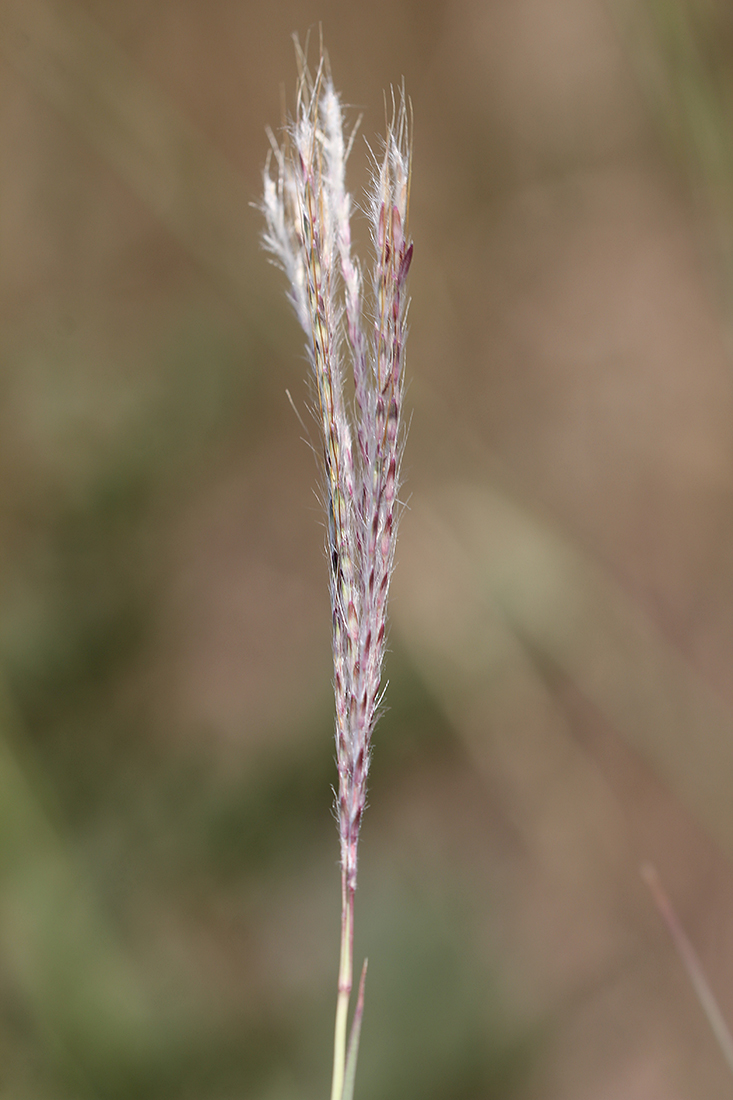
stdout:
[[(336, 814), (341, 845), (339, 957), (331, 1100), (351, 1100), (366, 964), (347, 1046), (353, 976), (353, 902), (372, 734), (383, 697), (385, 625), (394, 565), (403, 450), (411, 120), (392, 96), (386, 136), (372, 155), (365, 205), (373, 261), (369, 293), (351, 252), (352, 199), (341, 101), (321, 59), (298, 50), (295, 118), (271, 133), (264, 172), (264, 245), (283, 268), (306, 334), (320, 431), (333, 635)], [(353, 397), (346, 396), (353, 384)]]

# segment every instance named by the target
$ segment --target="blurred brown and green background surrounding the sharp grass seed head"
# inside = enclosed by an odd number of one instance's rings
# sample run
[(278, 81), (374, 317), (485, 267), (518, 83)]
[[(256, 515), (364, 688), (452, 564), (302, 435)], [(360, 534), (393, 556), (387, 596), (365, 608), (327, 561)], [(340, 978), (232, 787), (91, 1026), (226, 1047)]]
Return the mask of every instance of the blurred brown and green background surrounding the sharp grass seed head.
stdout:
[(415, 113), (357, 1096), (727, 1097), (639, 878), (733, 1021), (724, 0), (0, 0), (0, 1096), (327, 1094), (324, 529), (252, 208), (319, 21), (362, 134)]

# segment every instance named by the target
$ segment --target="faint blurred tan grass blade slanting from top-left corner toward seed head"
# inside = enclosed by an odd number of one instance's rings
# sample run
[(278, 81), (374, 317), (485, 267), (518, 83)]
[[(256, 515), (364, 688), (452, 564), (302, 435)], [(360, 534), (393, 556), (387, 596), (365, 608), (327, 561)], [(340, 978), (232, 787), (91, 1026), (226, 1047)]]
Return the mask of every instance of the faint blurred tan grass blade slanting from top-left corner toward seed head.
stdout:
[(251, 196), (112, 38), (73, 0), (0, 0), (0, 52), (249, 315)]

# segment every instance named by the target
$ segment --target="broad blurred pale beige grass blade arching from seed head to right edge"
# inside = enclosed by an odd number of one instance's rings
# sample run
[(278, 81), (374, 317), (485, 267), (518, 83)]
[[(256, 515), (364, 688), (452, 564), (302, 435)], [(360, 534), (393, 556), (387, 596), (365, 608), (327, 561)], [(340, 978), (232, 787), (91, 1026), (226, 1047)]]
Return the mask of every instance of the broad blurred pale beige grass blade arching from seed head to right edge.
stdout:
[[(402, 557), (395, 625), (445, 700), (495, 678), (508, 625), (733, 855), (733, 717), (598, 564), (508, 497), (467, 485), (411, 502)], [(512, 705), (524, 700), (504, 691)]]

